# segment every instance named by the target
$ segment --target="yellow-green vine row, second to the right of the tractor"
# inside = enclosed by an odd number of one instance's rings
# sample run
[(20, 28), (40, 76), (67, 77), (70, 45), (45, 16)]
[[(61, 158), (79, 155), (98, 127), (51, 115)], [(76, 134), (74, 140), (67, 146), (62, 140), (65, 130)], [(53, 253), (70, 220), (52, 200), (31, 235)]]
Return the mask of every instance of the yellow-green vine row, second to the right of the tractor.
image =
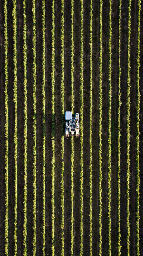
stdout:
[(92, 255), (92, 0), (90, 1), (90, 256)]

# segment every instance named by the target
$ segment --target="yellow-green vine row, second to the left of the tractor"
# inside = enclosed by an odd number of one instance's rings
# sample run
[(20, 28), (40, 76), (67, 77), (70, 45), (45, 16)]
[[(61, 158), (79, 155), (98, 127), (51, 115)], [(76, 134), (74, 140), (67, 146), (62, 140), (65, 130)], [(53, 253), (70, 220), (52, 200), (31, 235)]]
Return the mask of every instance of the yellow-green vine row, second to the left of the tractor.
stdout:
[(55, 0), (52, 0), (52, 256), (55, 254)]

